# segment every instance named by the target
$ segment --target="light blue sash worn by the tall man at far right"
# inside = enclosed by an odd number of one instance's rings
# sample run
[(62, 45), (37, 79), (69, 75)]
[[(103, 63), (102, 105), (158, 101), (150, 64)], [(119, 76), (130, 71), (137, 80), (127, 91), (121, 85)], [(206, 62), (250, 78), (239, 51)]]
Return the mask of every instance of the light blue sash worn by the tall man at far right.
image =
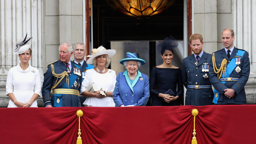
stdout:
[[(244, 52), (245, 52), (244, 50), (238, 50), (236, 53), (236, 56), (243, 56)], [(230, 60), (230, 63), (228, 63), (227, 65), (225, 78), (228, 78), (230, 76), (230, 74), (232, 73), (235, 67), (236, 67), (236, 58), (234, 57), (232, 58), (232, 60)], [(224, 78), (223, 74), (221, 77)], [(221, 82), (222, 84), (225, 84), (226, 81), (221, 81)], [(217, 94), (217, 97), (216, 97), (216, 94)], [(220, 96), (220, 93), (214, 88), (214, 97), (212, 100), (214, 104), (218, 104), (219, 96)]]

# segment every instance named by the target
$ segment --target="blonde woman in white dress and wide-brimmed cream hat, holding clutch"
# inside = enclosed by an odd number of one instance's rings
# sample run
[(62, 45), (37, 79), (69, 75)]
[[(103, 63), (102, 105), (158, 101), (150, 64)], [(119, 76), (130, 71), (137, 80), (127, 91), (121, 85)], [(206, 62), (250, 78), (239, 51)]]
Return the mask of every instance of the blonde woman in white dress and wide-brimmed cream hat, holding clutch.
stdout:
[[(116, 84), (116, 72), (108, 69), (110, 58), (115, 53), (116, 50), (106, 50), (100, 46), (92, 49), (92, 55), (88, 56), (90, 58), (86, 63), (93, 64), (94, 68), (86, 70), (82, 82), (81, 95), (88, 97), (84, 101), (85, 106), (115, 106), (112, 93)], [(95, 90), (86, 90), (90, 86)]]

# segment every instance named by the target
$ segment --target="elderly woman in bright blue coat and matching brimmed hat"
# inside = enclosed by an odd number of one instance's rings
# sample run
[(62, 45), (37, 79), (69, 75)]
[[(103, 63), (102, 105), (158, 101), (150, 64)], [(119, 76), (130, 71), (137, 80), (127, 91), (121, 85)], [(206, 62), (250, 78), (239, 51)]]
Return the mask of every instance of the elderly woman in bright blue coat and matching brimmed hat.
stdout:
[(137, 53), (126, 53), (126, 58), (120, 60), (127, 69), (116, 77), (113, 99), (116, 106), (146, 106), (149, 98), (149, 81), (146, 74), (138, 68), (145, 61), (138, 58)]

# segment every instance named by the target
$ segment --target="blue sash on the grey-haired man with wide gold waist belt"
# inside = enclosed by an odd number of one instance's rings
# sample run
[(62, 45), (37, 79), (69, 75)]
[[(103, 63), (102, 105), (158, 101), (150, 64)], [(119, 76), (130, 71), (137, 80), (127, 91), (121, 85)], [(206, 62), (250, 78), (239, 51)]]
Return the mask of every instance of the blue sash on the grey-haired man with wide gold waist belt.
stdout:
[[(78, 64), (75, 64), (75, 66), (80, 69), (80, 66)], [(78, 75), (74, 74), (74, 71), (73, 71), (71, 73), (71, 75), (68, 77), (68, 79), (69, 79), (69, 83), (68, 83), (69, 86), (72, 86), (74, 84), (74, 82), (76, 81), (77, 77), (78, 77)], [(65, 84), (62, 86), (62, 88), (68, 88), (67, 87), (67, 82), (65, 82)], [(54, 96), (54, 107), (62, 107), (62, 96), (63, 95), (64, 94), (53, 94), (53, 96)], [(59, 103), (57, 103), (58, 98), (60, 100)]]

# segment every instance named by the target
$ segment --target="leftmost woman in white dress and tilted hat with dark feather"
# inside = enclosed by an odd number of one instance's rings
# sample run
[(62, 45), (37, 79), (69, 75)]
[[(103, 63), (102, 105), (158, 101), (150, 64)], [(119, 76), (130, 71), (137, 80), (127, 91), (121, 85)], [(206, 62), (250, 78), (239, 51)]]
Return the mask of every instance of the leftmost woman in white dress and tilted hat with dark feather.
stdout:
[(20, 64), (10, 68), (6, 80), (6, 95), (10, 101), (8, 108), (38, 107), (36, 98), (41, 94), (39, 70), (28, 62), (31, 58), (31, 38), (24, 38), (16, 43), (15, 54), (19, 55)]

